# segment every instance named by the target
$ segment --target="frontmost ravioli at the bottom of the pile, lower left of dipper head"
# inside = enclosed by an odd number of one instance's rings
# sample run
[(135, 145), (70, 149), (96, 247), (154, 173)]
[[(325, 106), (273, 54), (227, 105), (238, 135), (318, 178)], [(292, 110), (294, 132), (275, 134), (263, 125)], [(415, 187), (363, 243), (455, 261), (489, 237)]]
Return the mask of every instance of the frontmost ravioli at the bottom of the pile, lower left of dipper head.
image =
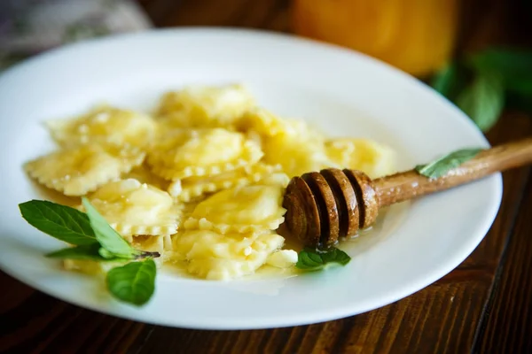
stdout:
[(187, 272), (226, 281), (254, 273), (284, 242), (271, 232), (221, 235), (213, 230), (189, 230), (174, 237), (173, 249)]

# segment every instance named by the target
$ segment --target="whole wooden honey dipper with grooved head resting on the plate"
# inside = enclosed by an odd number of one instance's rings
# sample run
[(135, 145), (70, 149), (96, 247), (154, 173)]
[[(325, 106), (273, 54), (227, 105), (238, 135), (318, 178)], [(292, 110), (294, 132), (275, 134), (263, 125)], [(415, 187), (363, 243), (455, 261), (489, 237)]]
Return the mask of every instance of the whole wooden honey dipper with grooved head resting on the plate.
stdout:
[(307, 246), (331, 246), (339, 237), (356, 235), (358, 229), (372, 226), (382, 207), (530, 163), (532, 138), (527, 138), (481, 150), (435, 179), (415, 169), (373, 181), (365, 173), (348, 169), (304, 173), (293, 177), (286, 188), (283, 227)]

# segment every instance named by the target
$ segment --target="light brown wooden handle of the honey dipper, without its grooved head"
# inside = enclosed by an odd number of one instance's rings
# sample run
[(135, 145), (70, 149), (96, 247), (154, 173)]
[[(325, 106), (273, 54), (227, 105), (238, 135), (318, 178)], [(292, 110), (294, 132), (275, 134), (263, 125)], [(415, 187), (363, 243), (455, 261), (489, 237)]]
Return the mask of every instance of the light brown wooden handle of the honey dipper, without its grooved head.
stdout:
[(498, 145), (479, 154), (437, 179), (429, 179), (415, 170), (395, 173), (374, 180), (379, 207), (451, 189), (490, 173), (532, 163), (532, 138)]

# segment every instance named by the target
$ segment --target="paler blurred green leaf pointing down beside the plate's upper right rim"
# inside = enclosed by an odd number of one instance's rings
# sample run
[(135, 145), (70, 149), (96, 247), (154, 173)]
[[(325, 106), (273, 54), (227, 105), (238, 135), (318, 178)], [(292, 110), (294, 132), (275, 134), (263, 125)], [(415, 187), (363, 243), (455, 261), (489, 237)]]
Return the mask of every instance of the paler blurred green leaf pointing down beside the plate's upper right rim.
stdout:
[(457, 104), (485, 132), (497, 123), (505, 106), (503, 81), (497, 74), (479, 73), (458, 96)]

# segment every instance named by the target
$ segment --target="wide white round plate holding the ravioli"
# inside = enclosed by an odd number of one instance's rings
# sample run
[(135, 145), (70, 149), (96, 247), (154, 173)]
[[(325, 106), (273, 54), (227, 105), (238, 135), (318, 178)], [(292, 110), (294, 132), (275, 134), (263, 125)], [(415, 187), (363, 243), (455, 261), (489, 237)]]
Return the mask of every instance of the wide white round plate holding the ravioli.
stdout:
[(106, 101), (149, 109), (184, 84), (245, 83), (282, 115), (331, 135), (393, 146), (401, 168), (465, 146), (488, 146), (464, 114), (424, 84), (353, 51), (231, 29), (173, 29), (122, 35), (53, 50), (0, 78), (0, 265), (67, 302), (128, 319), (176, 327), (284, 327), (367, 312), (426, 287), (481, 242), (502, 194), (494, 175), (392, 212), (379, 232), (343, 245), (346, 267), (288, 279), (233, 282), (161, 274), (137, 309), (111, 300), (101, 282), (43, 258), (60, 242), (30, 227), (17, 204), (38, 193), (21, 165), (53, 145), (40, 122)]

